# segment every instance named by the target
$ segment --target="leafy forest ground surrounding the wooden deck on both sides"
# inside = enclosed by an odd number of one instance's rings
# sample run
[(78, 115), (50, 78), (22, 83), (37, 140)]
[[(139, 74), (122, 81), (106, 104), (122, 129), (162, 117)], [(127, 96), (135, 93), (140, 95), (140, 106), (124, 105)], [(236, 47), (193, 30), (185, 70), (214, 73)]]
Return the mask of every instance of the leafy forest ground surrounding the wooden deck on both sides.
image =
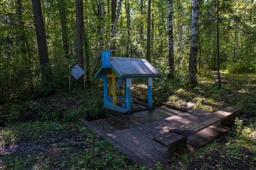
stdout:
[[(194, 89), (183, 79), (156, 79), (152, 89), (156, 107), (193, 101), (194, 108), (206, 111), (245, 108), (235, 114), (229, 132), (194, 152), (174, 155), (157, 169), (256, 169), (256, 76), (221, 75), (222, 89), (215, 74), (199, 77)], [(146, 101), (146, 86), (139, 81), (132, 96)], [(0, 169), (145, 169), (78, 121), (107, 116), (102, 94), (98, 87), (0, 106)]]

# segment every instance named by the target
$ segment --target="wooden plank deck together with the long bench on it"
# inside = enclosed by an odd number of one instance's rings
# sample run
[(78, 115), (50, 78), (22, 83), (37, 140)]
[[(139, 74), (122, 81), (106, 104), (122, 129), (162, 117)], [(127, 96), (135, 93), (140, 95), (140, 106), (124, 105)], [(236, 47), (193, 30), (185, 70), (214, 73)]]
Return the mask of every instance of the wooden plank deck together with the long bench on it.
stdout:
[[(156, 108), (82, 122), (119, 152), (126, 153), (132, 162), (154, 169), (157, 162), (164, 163), (171, 159), (173, 152), (182, 154), (186, 149), (193, 151), (230, 130), (220, 120), (229, 118), (240, 109), (228, 107), (215, 113), (195, 109), (183, 113), (171, 108)], [(186, 137), (169, 132), (171, 129), (192, 130), (193, 135)]]

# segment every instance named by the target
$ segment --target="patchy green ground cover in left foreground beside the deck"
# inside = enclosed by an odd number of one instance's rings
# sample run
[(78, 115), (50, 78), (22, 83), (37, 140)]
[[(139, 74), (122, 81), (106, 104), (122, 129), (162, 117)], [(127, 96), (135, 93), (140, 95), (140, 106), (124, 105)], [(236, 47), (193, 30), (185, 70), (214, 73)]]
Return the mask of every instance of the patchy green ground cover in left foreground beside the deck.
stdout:
[(82, 123), (21, 123), (0, 130), (0, 169), (134, 169)]

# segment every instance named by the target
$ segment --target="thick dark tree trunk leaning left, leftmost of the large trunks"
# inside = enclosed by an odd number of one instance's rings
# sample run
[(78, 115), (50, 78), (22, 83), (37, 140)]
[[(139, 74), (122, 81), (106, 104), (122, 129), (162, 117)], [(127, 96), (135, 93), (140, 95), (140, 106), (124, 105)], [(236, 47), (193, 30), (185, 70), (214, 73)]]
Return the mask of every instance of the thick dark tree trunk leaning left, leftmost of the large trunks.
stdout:
[(36, 38), (40, 64), (45, 67), (49, 63), (48, 49), (46, 45), (46, 30), (43, 24), (43, 14), (40, 0), (32, 0), (33, 18), (36, 25)]

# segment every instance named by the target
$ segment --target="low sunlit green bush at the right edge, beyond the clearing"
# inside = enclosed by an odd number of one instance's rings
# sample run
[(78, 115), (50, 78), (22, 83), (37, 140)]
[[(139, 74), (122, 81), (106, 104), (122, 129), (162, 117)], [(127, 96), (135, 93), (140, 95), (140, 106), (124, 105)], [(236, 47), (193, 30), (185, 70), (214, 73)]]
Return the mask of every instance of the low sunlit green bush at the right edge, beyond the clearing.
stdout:
[(239, 61), (235, 64), (229, 64), (227, 70), (233, 74), (256, 73), (256, 63)]

